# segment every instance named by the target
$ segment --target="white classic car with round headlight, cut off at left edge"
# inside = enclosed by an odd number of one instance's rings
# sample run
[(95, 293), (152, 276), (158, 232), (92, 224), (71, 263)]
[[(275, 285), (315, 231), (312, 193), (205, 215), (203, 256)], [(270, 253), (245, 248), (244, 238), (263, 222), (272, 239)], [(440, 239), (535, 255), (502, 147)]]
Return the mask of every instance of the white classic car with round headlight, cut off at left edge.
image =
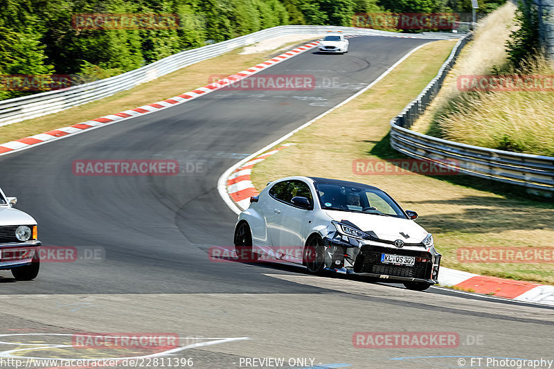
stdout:
[(33, 280), (40, 267), (37, 222), (15, 204), (17, 197), (0, 189), (0, 269), (10, 269), (16, 280)]

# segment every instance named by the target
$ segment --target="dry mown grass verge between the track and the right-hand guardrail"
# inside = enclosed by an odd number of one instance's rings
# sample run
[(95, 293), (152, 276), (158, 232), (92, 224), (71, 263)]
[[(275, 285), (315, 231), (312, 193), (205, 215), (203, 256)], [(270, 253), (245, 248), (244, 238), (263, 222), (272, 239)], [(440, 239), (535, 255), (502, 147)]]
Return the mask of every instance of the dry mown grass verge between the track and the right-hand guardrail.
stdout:
[(329, 177), (382, 188), (434, 234), (445, 267), (472, 273), (554, 283), (554, 264), (458, 262), (463, 246), (552, 246), (554, 204), (509, 192), (499, 183), (462, 175), (355, 174), (356, 159), (400, 158), (388, 144), (389, 121), (434, 78), (454, 42), (427, 44), (361, 96), (294, 134), (297, 143), (253, 170), (258, 190), (291, 175)]

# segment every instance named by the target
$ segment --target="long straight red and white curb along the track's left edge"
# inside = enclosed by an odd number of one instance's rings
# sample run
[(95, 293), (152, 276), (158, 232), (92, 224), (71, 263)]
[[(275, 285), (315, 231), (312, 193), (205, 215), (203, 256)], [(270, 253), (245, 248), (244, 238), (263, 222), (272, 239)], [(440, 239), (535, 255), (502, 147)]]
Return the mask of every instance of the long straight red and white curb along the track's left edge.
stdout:
[(203, 96), (203, 95), (206, 95), (207, 93), (211, 93), (213, 91), (222, 89), (226, 87), (227, 84), (231, 84), (232, 82), (237, 82), (239, 80), (249, 77), (250, 75), (258, 73), (259, 71), (267, 69), (270, 66), (274, 66), (275, 64), (283, 62), (283, 60), (287, 60), (287, 59), (290, 59), (291, 57), (304, 53), (305, 51), (308, 51), (314, 48), (315, 46), (317, 46), (317, 44), (319, 44), (319, 42), (310, 42), (309, 44), (305, 44), (303, 46), (293, 48), (291, 51), (287, 51), (286, 53), (280, 54), (276, 57), (266, 60), (265, 62), (261, 62), (260, 64), (252, 66), (249, 69), (240, 71), (233, 75), (229, 75), (228, 77), (223, 78), (222, 80), (218, 80), (216, 82), (206, 84), (205, 86), (198, 87), (193, 91), (181, 93), (181, 95), (168, 98), (167, 100), (154, 102), (149, 105), (143, 105), (141, 107), (136, 107), (134, 109), (121, 111), (120, 113), (102, 116), (100, 118), (96, 118), (93, 120), (87, 120), (86, 122), (71, 125), (69, 127), (62, 127), (59, 129), (54, 129), (53, 131), (44, 132), (42, 134), (35, 134), (33, 136), (28, 136), (26, 138), (21, 138), (19, 140), (3, 143), (0, 145), (0, 155), (10, 154), (12, 152), (16, 152), (19, 150), (25, 150), (25, 149), (28, 149), (29, 147), (33, 147), (33, 145), (39, 145), (39, 144), (57, 140), (60, 138), (65, 138), (73, 134), (82, 133), (88, 129), (96, 129), (99, 127), (104, 127), (106, 125), (110, 125), (121, 120), (134, 118), (136, 116), (143, 116), (145, 114), (150, 114), (154, 111), (159, 111), (161, 109), (172, 107), (173, 105), (179, 105), (183, 102), (194, 100), (199, 96)]

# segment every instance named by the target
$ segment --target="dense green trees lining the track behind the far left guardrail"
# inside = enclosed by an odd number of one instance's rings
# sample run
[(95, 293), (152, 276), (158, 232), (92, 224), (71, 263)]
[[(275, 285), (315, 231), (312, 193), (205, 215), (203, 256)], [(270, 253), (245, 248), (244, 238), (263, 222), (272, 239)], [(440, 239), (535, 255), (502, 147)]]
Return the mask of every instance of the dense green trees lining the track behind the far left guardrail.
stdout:
[[(1, 0), (0, 75), (105, 78), (188, 48), (284, 24), (352, 26), (360, 12), (433, 12), (470, 0)], [(493, 0), (479, 0), (493, 1)], [(503, 0), (494, 0), (503, 1)], [(176, 29), (83, 30), (82, 13), (175, 14)], [(21, 96), (0, 88), (0, 98)]]

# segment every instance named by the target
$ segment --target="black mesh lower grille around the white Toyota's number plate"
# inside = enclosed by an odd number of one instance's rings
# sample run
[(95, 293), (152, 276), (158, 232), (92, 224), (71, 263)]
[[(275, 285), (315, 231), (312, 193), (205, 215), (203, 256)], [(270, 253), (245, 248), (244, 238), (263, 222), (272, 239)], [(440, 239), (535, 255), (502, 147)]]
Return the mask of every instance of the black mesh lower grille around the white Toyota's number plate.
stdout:
[[(415, 262), (413, 267), (407, 267), (403, 265), (384, 264), (381, 262), (382, 253), (391, 253), (394, 255), (406, 255), (414, 257), (425, 256), (429, 262)], [(411, 250), (393, 250), (386, 249), (384, 247), (366, 246), (361, 249), (356, 262), (354, 264), (354, 270), (358, 273), (375, 273), (384, 274), (386, 276), (395, 277), (407, 277), (407, 278), (422, 278), (427, 279), (431, 276), (431, 268), (433, 263), (431, 262), (431, 255), (423, 251), (411, 251)]]

